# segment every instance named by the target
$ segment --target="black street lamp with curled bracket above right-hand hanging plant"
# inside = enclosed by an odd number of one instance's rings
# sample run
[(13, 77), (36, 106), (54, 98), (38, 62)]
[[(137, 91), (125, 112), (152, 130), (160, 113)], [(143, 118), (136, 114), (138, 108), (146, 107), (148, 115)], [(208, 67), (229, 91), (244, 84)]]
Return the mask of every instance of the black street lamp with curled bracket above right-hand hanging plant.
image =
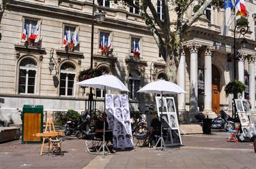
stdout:
[[(238, 28), (238, 26), (241, 27), (240, 29), (240, 35), (245, 35), (248, 32), (248, 23), (241, 21), (239, 22), (239, 24), (236, 24), (236, 18), (235, 18), (235, 28), (233, 29), (233, 55), (234, 55), (234, 65), (233, 65), (233, 69), (234, 69), (234, 78), (236, 79), (236, 60), (238, 58), (240, 58), (240, 56), (236, 56), (236, 29)], [(244, 37), (244, 39), (242, 40), (242, 47), (245, 48), (246, 43), (248, 43)]]

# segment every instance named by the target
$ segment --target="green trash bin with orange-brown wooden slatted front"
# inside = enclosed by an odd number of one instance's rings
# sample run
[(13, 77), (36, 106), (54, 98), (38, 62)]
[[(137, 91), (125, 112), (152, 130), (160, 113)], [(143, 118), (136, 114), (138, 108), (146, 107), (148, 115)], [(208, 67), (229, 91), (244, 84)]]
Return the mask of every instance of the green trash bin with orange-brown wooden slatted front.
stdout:
[(43, 132), (43, 112), (42, 105), (24, 105), (22, 113), (23, 131), (22, 143), (33, 144), (42, 143), (42, 137), (35, 136), (36, 133)]

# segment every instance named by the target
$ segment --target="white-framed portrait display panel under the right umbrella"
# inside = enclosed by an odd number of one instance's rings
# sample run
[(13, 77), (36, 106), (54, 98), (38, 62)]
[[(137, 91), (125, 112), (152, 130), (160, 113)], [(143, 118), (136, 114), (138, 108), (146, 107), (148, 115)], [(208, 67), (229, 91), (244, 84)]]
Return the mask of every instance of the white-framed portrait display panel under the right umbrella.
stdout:
[(165, 139), (165, 145), (182, 145), (174, 98), (163, 97), (161, 99), (161, 97), (157, 96), (156, 106), (158, 117), (160, 117), (160, 120), (162, 119), (162, 134)]

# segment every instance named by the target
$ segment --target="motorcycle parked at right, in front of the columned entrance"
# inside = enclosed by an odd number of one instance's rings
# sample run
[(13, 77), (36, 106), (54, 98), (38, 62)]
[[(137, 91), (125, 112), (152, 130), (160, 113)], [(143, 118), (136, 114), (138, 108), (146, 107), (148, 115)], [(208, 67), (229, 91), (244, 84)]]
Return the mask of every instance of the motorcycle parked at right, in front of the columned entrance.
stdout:
[(235, 124), (232, 121), (232, 118), (225, 113), (225, 111), (221, 110), (218, 117), (213, 119), (212, 121), (212, 129), (225, 129), (225, 130), (235, 130)]

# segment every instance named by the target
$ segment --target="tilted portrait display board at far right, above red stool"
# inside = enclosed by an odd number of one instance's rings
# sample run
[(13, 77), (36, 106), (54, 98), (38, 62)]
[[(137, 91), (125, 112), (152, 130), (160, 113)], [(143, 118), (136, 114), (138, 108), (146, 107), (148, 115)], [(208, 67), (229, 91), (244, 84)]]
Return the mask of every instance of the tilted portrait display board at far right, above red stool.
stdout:
[(242, 126), (242, 132), (246, 137), (253, 137), (256, 135), (256, 128), (251, 119), (250, 105), (246, 100), (236, 99), (236, 109)]

